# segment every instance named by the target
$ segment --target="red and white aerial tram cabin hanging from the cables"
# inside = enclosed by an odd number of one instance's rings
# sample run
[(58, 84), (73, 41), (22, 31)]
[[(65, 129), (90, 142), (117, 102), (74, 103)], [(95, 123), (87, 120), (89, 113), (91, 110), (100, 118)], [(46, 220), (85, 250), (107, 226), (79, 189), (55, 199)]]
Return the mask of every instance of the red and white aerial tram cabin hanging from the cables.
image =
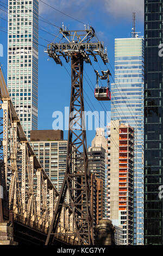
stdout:
[[(96, 88), (95, 88), (95, 97), (97, 100), (99, 101), (105, 101), (105, 100), (111, 100), (111, 93), (110, 93), (110, 80), (109, 80), (109, 75), (110, 71), (103, 71), (102, 70), (102, 76), (99, 75), (99, 72), (97, 70), (95, 70), (96, 72)], [(108, 83), (108, 87), (99, 87), (98, 84), (98, 78), (100, 78), (101, 80), (106, 80), (107, 79), (107, 83)]]

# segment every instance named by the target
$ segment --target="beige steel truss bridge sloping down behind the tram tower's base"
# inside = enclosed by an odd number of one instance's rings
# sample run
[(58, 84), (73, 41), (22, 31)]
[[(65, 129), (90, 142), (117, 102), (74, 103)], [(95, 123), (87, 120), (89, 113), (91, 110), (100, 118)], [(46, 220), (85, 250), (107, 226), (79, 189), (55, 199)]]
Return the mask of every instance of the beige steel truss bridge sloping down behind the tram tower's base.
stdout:
[[(20, 243), (45, 244), (59, 192), (26, 138), (1, 68), (0, 100), (0, 222), (14, 223), (14, 236)], [(72, 211), (66, 202), (54, 243), (78, 244)]]

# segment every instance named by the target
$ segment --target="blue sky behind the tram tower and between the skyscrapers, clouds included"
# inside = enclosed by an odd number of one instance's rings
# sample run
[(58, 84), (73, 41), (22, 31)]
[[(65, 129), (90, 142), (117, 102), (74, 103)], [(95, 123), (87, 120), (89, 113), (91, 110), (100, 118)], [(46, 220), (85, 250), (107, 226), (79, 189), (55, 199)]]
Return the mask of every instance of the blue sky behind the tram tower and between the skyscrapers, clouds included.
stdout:
[[(143, 0), (43, 0), (54, 8), (59, 9), (63, 13), (72, 16), (74, 19), (80, 20), (86, 24), (91, 25), (99, 38), (104, 41), (108, 50), (109, 62), (114, 69), (114, 39), (115, 38), (128, 38), (131, 36), (132, 27), (132, 13), (136, 12), (136, 31), (141, 32), (143, 35)], [(7, 4), (7, 0), (0, 0), (0, 8), (3, 8), (3, 3)], [(4, 7), (7, 7), (4, 5)], [(7, 19), (7, 13), (0, 9), (0, 17)], [(74, 21), (70, 17), (67, 17), (42, 2), (39, 3), (39, 10), (41, 17), (44, 17), (49, 22), (68, 27), (70, 30), (84, 29), (84, 25), (80, 22)], [(3, 70), (5, 77), (7, 78), (7, 22), (0, 19), (0, 44), (3, 45), (3, 57), (0, 57), (0, 62), (3, 64)], [(41, 18), (40, 18), (41, 19)], [(58, 34), (58, 28), (48, 25), (42, 21), (39, 21), (39, 26), (45, 29), (48, 33)], [(47, 41), (53, 41), (55, 36), (49, 35), (43, 31), (39, 31), (39, 44), (47, 46)], [(65, 106), (70, 105), (70, 89), (71, 80), (64, 67), (55, 64), (53, 59), (48, 60), (47, 53), (44, 52), (44, 47), (39, 46), (39, 118), (38, 129), (52, 129), (52, 123), (54, 118), (52, 114), (54, 111), (61, 111), (64, 113)], [(64, 63), (68, 72), (70, 71), (70, 65)], [(106, 66), (101, 60), (99, 65), (103, 70), (106, 70)], [(99, 71), (99, 65), (93, 63), (93, 66)], [(108, 64), (109, 68), (110, 65)], [(111, 69), (111, 68), (110, 68)], [(84, 74), (89, 81), (90, 86), (96, 86), (96, 75), (90, 64), (84, 64)], [(111, 71), (112, 72), (112, 71)], [(114, 74), (112, 74), (114, 77)], [(95, 99), (94, 93), (90, 86), (87, 84), (84, 78), (84, 90), (85, 99), (89, 103), (91, 108), (95, 108), (96, 111), (104, 111), (99, 102)], [(111, 81), (112, 82), (112, 81)], [(94, 90), (94, 89), (93, 89)], [(89, 105), (85, 102), (85, 110), (91, 111)], [(93, 107), (92, 107), (93, 106)], [(105, 109), (110, 111), (110, 102), (104, 102)], [(106, 124), (105, 124), (106, 125)], [(65, 139), (67, 138), (67, 132), (64, 133)], [(94, 131), (87, 131), (87, 144), (91, 144), (92, 138), (95, 137)]]

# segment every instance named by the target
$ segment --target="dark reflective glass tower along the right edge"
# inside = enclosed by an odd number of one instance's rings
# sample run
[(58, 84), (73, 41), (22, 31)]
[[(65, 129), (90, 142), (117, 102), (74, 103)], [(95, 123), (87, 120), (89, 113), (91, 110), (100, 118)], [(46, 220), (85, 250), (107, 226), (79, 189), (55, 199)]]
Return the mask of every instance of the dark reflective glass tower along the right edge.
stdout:
[[(145, 245), (162, 242), (162, 0), (145, 0)], [(161, 47), (162, 48), (162, 47)]]

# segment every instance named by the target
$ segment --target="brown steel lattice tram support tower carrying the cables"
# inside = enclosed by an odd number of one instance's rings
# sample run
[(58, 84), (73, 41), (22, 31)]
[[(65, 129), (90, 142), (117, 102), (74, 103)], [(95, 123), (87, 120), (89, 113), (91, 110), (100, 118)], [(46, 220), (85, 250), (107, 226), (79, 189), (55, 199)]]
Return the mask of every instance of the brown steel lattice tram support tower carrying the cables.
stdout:
[[(71, 97), (67, 143), (66, 173), (62, 183), (57, 206), (49, 228), (46, 245), (54, 244), (59, 235), (58, 225), (66, 194), (70, 198), (67, 205), (72, 211), (74, 233), (67, 232), (70, 239), (78, 240), (79, 245), (93, 245), (93, 220), (91, 212), (90, 173), (87, 168), (87, 144), (84, 121), (83, 65), (91, 64), (90, 56), (97, 62), (100, 56), (104, 64), (108, 63), (106, 48), (98, 41), (95, 30), (86, 27), (83, 31), (68, 31), (60, 28), (62, 41), (48, 44), (47, 53), (62, 66), (60, 57), (68, 63), (71, 59)], [(73, 113), (73, 114), (72, 114)], [(60, 234), (61, 235), (61, 234)]]

